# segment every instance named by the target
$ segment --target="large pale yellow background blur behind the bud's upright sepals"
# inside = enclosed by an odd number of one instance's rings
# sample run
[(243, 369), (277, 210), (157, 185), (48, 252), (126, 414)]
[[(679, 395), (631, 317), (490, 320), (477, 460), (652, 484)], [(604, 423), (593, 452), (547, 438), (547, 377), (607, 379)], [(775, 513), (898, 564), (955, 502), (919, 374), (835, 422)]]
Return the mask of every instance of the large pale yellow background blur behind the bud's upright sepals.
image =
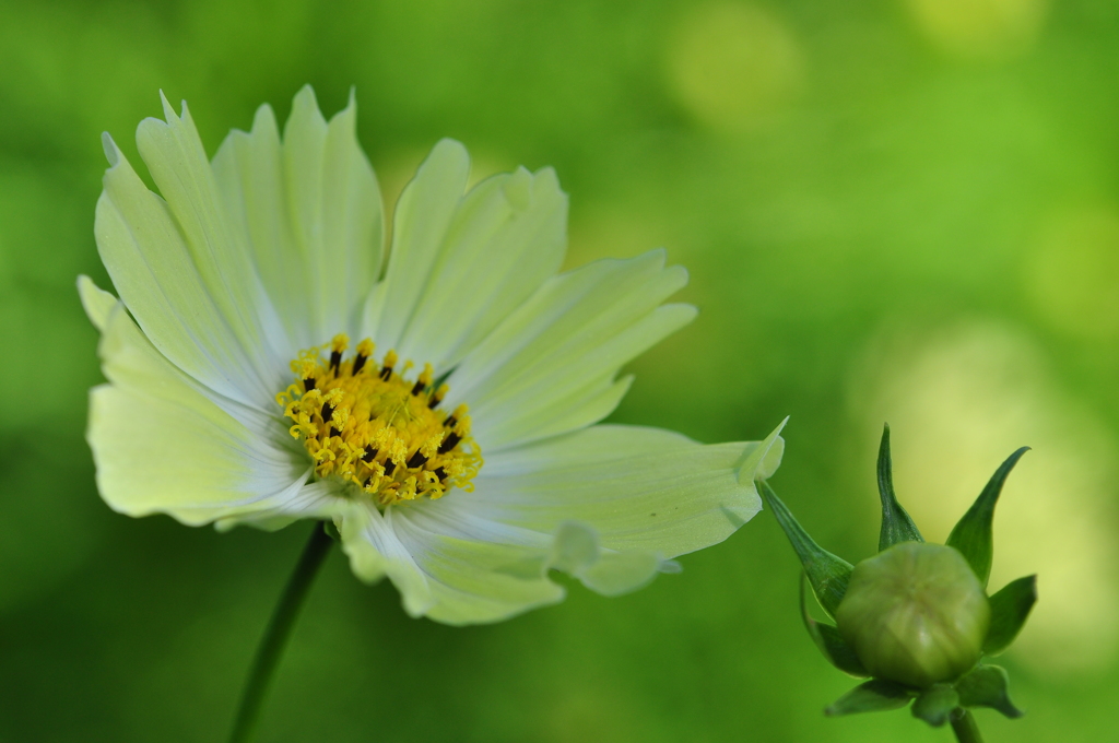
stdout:
[[(930, 542), (943, 543), (995, 469), (1033, 448), (995, 514), (989, 591), (1036, 573), (1040, 600), (1010, 652), (1043, 671), (1109, 667), (1119, 649), (1117, 549), (1108, 501), (1116, 442), (1055, 387), (1040, 350), (994, 323), (883, 341), (856, 373), (852, 411), (873, 460), (888, 421), (894, 483)], [(868, 506), (869, 508), (869, 506)]]

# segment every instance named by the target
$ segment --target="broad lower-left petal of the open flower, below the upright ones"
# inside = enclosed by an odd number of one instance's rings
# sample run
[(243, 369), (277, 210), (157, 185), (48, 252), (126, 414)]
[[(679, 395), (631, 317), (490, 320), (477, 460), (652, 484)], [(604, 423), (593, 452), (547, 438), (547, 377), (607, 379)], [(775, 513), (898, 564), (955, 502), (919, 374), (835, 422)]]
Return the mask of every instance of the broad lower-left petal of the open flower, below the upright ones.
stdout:
[(281, 525), (278, 517), (333, 511), (336, 498), (304, 492), (310, 467), (274, 439), (283, 433), (274, 418), (234, 401), (218, 405), (122, 305), (110, 313), (100, 350), (110, 384), (91, 393), (86, 438), (113, 509), (164, 512), (188, 525), (262, 519), (272, 527)]

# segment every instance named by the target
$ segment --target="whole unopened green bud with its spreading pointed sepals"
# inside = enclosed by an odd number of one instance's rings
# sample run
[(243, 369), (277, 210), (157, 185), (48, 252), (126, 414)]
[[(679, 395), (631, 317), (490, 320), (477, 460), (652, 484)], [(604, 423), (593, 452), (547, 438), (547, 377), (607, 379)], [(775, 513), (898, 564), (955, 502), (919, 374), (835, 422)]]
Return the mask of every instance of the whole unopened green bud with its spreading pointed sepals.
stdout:
[[(884, 712), (912, 702), (914, 717), (933, 727), (951, 722), (961, 741), (979, 740), (971, 707), (1022, 716), (1007, 694), (1006, 670), (980, 658), (1005, 650), (1037, 601), (1036, 575), (1012, 581), (989, 599), (986, 594), (995, 505), (1026, 450), (1010, 454), (995, 471), (948, 544), (925, 544), (894, 492), (885, 426), (878, 448), (878, 554), (854, 567), (816, 544), (765, 480), (755, 481), (805, 567), (800, 615), (809, 637), (839, 670), (871, 677), (826, 714)], [(835, 626), (812, 618), (806, 586)]]

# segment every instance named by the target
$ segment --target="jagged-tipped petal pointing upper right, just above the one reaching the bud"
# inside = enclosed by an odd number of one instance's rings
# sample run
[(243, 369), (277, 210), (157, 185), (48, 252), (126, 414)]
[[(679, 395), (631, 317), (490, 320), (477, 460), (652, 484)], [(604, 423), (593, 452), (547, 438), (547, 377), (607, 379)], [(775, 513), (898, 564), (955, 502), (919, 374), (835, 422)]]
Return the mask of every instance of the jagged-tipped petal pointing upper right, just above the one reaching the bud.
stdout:
[(685, 283), (662, 251), (598, 261), (546, 282), (474, 348), (450, 378), (444, 406), (469, 403), (487, 457), (608, 415), (624, 395), (618, 369), (695, 317), (660, 305)]

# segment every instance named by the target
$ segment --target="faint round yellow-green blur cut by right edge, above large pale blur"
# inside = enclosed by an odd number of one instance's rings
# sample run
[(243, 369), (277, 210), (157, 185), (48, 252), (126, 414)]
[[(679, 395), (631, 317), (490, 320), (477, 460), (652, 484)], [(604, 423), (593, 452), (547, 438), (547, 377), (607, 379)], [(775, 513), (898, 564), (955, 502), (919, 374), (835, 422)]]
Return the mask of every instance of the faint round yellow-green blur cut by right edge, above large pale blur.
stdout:
[(1119, 209), (1082, 207), (1051, 217), (1024, 262), (1023, 280), (1056, 329), (1119, 338)]

